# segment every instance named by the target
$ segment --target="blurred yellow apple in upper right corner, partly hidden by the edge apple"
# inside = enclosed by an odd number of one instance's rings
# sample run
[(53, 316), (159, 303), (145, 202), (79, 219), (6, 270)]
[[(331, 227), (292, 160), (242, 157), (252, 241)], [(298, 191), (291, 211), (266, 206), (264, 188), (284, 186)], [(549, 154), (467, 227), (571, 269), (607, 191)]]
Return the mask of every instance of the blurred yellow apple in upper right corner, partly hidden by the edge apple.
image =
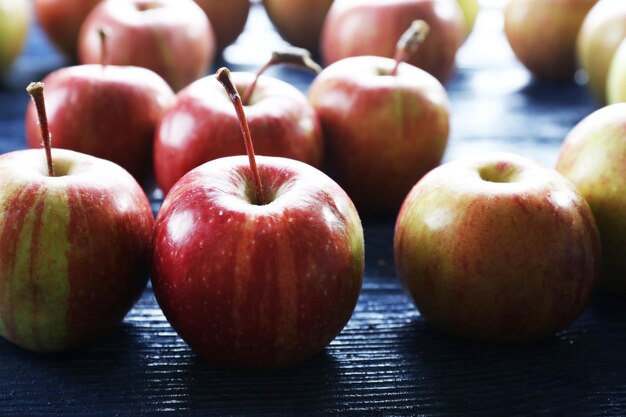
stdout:
[(606, 102), (606, 81), (613, 55), (626, 38), (626, 2), (599, 1), (583, 21), (576, 53), (580, 67), (589, 77), (589, 87), (601, 102)]

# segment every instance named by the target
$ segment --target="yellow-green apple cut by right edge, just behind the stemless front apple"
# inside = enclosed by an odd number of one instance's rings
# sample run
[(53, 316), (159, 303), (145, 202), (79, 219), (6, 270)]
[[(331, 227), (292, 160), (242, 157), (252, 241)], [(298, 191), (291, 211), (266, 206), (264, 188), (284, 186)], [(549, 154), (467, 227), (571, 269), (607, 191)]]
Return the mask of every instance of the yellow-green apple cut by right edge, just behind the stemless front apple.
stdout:
[(591, 206), (602, 241), (599, 285), (626, 295), (626, 104), (603, 107), (567, 135), (556, 168)]

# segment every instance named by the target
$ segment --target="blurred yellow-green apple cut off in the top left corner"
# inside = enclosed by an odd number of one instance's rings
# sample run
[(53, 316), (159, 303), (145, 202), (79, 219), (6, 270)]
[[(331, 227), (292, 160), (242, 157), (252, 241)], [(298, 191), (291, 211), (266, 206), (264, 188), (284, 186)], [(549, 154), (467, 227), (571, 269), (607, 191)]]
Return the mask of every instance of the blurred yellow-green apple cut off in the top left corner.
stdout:
[(30, 21), (30, 0), (0, 0), (0, 74), (22, 51)]

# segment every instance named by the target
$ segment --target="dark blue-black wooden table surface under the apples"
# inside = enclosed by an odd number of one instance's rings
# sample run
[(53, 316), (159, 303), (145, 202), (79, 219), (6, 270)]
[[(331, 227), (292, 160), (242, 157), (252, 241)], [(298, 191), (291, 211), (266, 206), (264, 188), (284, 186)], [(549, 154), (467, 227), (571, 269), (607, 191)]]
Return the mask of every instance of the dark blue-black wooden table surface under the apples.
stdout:
[[(447, 84), (446, 160), (490, 150), (553, 165), (574, 124), (597, 108), (583, 86), (534, 81), (512, 56), (496, 1)], [(278, 41), (255, 7), (226, 63), (251, 68)], [(25, 146), (24, 87), (66, 65), (33, 28), (0, 87), (0, 152)], [(306, 75), (277, 71), (305, 90)], [(152, 196), (158, 209), (158, 193)], [(440, 335), (419, 316), (393, 266), (394, 219), (363, 219), (364, 286), (356, 311), (323, 354), (281, 372), (215, 369), (176, 335), (148, 287), (102, 343), (37, 355), (0, 341), (0, 416), (626, 415), (626, 304), (597, 293), (563, 332), (529, 345)]]

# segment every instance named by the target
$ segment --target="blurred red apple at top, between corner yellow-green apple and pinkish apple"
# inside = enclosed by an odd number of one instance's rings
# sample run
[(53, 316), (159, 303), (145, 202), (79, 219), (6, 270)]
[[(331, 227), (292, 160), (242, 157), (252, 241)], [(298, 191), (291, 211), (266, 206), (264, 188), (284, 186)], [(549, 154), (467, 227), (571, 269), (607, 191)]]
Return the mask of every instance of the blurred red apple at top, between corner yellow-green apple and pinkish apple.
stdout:
[(75, 60), (80, 27), (89, 12), (101, 1), (33, 0), (33, 3), (39, 25), (48, 39), (66, 57)]

